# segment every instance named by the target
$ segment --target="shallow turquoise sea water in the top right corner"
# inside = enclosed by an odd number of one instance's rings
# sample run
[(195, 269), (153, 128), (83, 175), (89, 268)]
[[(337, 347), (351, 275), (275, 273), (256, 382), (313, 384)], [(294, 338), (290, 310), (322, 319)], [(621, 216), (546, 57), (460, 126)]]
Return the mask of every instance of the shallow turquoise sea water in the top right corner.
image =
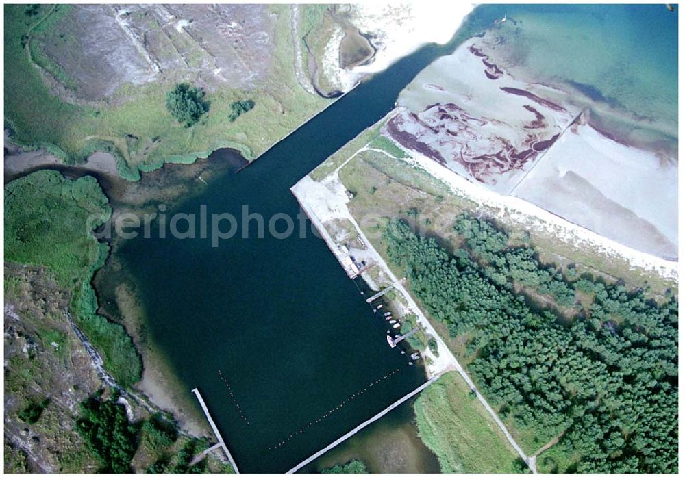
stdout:
[(484, 5), (476, 14), (507, 15), (493, 31), (514, 76), (677, 135), (677, 5)]

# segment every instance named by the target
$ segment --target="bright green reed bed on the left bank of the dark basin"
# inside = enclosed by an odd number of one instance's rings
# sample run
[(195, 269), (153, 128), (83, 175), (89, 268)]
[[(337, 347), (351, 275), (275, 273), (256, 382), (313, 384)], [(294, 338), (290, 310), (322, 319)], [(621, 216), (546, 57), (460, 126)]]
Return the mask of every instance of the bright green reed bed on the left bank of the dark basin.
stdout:
[(45, 266), (71, 292), (75, 323), (101, 353), (105, 367), (123, 386), (140, 379), (142, 366), (123, 326), (96, 313), (90, 285), (109, 246), (92, 236), (112, 209), (93, 177), (76, 181), (42, 170), (5, 185), (5, 260)]

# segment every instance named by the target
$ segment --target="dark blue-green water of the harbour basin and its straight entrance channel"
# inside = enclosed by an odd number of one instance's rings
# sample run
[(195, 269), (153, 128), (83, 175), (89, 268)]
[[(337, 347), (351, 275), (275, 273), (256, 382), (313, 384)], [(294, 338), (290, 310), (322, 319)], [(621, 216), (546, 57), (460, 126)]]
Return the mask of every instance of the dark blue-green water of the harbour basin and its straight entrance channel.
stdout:
[[(206, 205), (208, 214), (229, 212), (240, 224), (241, 207), (248, 205), (266, 219), (295, 217), (299, 205), (290, 187), (382, 118), (416, 73), (465, 38), (462, 29), (449, 44), (424, 47), (365, 81), (256, 163), (212, 181), (205, 194), (168, 216), (199, 214)], [(129, 240), (120, 253), (135, 277), (149, 337), (188, 392), (200, 389), (240, 470), (283, 472), (425, 376), (388, 347), (384, 320), (323, 240), (312, 233), (258, 239), (256, 229), (253, 223), (249, 240), (239, 231), (216, 248), (210, 239), (162, 239), (153, 229), (151, 238)]]

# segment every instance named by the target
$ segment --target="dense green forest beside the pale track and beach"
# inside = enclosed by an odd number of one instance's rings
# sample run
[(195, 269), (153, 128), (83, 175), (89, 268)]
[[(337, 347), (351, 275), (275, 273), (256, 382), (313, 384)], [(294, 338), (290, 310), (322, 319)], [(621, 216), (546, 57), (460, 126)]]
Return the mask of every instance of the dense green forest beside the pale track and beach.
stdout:
[[(501, 417), (567, 459), (558, 472), (677, 472), (677, 300), (540, 263), (462, 215), (453, 253), (393, 220), (388, 257)], [(544, 461), (545, 454), (538, 457)], [(543, 464), (544, 465), (544, 464)]]

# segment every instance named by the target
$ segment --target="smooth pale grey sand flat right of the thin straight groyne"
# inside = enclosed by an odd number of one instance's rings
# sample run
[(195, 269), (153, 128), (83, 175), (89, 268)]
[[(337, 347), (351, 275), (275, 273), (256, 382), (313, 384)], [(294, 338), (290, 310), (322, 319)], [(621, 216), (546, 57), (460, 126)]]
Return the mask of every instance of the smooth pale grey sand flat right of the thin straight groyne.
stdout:
[(625, 244), (677, 259), (677, 162), (574, 125), (512, 195)]

